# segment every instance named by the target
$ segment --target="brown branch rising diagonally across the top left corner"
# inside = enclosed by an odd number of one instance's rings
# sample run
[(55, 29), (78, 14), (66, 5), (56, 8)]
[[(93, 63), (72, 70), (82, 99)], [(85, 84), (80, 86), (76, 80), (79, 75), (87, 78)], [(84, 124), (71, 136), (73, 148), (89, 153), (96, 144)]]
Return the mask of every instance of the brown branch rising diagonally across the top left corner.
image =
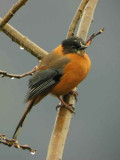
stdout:
[(19, 0), (10, 10), (9, 12), (5, 15), (5, 17), (3, 18), (1, 24), (0, 24), (0, 30), (5, 26), (6, 23), (8, 23), (8, 21), (14, 16), (14, 14), (18, 11), (18, 9), (20, 7), (22, 7), (23, 5), (25, 5), (25, 3), (28, 0)]

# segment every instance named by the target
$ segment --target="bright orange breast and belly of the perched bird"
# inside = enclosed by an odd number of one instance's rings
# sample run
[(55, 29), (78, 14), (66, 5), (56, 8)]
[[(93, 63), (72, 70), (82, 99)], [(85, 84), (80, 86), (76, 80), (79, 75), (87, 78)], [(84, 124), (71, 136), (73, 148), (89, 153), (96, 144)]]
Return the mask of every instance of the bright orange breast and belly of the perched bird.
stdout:
[(71, 62), (65, 66), (60, 82), (51, 90), (51, 93), (56, 96), (65, 95), (72, 91), (85, 79), (91, 68), (91, 61), (86, 53), (84, 56), (78, 54), (66, 56), (71, 59)]

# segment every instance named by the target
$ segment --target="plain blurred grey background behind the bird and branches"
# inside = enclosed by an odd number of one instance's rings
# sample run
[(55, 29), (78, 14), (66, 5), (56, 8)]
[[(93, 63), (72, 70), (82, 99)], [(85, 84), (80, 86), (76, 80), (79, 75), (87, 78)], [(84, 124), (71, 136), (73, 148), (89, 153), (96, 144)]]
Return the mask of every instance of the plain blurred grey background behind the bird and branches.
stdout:
[[(0, 17), (17, 0), (0, 0)], [(78, 8), (78, 0), (28, 1), (10, 24), (40, 47), (50, 52), (65, 39)], [(87, 53), (92, 61), (88, 77), (80, 84), (76, 114), (64, 150), (63, 160), (120, 159), (120, 1), (99, 0), (89, 35), (105, 31), (93, 40)], [(0, 70), (22, 74), (38, 61), (0, 32)], [(26, 108), (24, 97), (29, 77), (17, 80), (0, 77), (0, 134), (12, 134)], [(44, 160), (53, 129), (58, 100), (46, 97), (33, 108), (19, 135), (37, 153), (0, 145), (1, 160)]]

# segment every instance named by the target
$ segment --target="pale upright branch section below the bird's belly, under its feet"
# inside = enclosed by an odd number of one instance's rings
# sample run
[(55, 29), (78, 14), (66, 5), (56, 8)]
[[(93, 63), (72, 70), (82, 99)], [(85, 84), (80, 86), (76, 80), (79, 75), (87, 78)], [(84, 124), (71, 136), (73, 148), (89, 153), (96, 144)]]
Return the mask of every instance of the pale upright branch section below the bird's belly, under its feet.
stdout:
[[(65, 96), (64, 101), (68, 104), (75, 104), (73, 95)], [(73, 114), (67, 109), (60, 108), (54, 124), (46, 160), (62, 160), (72, 115)]]

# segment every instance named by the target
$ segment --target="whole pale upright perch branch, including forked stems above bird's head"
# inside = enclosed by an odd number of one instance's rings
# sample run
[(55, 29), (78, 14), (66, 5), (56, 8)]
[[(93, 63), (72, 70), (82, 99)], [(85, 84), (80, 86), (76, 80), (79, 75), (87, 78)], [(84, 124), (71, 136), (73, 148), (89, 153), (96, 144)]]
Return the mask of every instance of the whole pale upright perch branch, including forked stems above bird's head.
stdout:
[[(85, 4), (87, 4), (87, 5), (86, 5), (85, 9), (83, 7), (84, 11), (82, 10), (82, 12), (83, 12), (82, 21), (80, 23), (77, 36), (83, 38), (84, 40), (87, 37), (88, 30), (90, 28), (90, 24), (91, 24), (91, 21), (93, 18), (93, 13), (94, 13), (95, 7), (97, 5), (97, 1), (98, 0), (89, 0), (89, 1), (87, 1), (89, 3), (89, 5), (86, 2), (86, 0), (82, 1), (82, 3), (84, 4), (84, 7), (85, 7)], [(86, 3), (84, 3), (84, 2), (86, 2)], [(80, 4), (80, 6), (81, 5), (82, 4)], [(72, 21), (71, 27), (69, 28), (69, 32), (67, 34), (67, 37), (73, 36), (73, 34), (75, 32), (75, 28), (76, 28), (76, 25), (77, 25), (79, 17), (80, 17), (80, 15), (78, 15), (78, 14), (81, 15), (79, 8), (76, 12), (76, 16), (74, 17), (74, 19)], [(86, 26), (83, 25), (84, 23), (86, 24)], [(82, 33), (82, 36), (81, 36), (80, 30), (84, 31)], [(67, 104), (75, 105), (74, 96), (66, 95), (66, 96), (64, 96), (64, 98), (65, 98), (65, 102)], [(63, 150), (64, 150), (67, 134), (69, 131), (72, 115), (73, 114), (70, 111), (68, 111), (64, 108), (60, 108), (59, 113), (57, 114), (57, 117), (56, 117), (56, 122), (55, 122), (55, 125), (53, 128), (53, 133), (52, 133), (52, 136), (50, 139), (46, 160), (53, 160), (53, 159), (62, 160)]]

